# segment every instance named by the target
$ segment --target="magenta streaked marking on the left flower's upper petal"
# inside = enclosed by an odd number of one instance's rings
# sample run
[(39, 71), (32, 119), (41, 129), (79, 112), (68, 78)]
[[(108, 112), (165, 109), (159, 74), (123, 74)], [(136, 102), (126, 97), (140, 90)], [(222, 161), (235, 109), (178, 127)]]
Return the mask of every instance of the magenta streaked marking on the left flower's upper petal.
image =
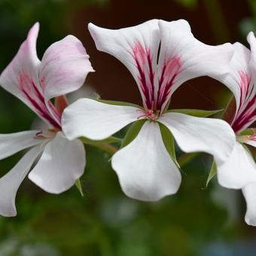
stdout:
[(30, 104), (35, 108), (35, 111), (37, 111), (38, 114), (47, 120), (51, 125), (56, 127), (58, 130), (61, 130), (61, 126), (59, 125), (60, 116), (54, 108), (53, 104), (49, 101), (49, 106), (53, 110), (57, 120), (59, 120), (59, 123), (48, 111), (48, 108), (44, 102), (44, 96), (41, 93), (41, 88), (37, 87), (32, 78), (30, 78), (29, 75), (26, 75), (25, 72), (20, 72), (18, 87), (26, 99), (30, 102)]

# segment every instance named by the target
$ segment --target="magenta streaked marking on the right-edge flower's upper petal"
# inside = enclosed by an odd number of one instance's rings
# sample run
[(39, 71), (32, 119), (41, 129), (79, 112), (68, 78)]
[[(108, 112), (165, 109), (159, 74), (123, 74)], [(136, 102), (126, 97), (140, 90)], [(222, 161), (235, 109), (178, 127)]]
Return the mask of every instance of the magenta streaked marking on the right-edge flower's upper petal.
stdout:
[(239, 77), (240, 100), (237, 106), (236, 116), (231, 123), (236, 133), (247, 128), (256, 120), (255, 85), (251, 84), (251, 78), (245, 72), (239, 72)]

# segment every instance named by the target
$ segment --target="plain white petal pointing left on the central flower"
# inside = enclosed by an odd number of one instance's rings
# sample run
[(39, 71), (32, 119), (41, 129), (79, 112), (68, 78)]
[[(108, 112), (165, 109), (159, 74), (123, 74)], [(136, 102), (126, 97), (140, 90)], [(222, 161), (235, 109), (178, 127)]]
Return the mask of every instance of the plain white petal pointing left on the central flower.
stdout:
[(93, 99), (78, 99), (62, 114), (62, 130), (69, 139), (81, 136), (106, 139), (124, 126), (138, 120), (139, 108), (110, 105)]

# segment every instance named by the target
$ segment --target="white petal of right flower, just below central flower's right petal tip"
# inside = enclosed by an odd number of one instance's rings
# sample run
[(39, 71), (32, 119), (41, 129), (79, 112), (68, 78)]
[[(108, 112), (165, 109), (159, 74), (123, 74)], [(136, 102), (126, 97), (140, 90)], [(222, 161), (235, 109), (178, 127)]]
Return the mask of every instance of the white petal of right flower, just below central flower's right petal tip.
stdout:
[(232, 154), (221, 166), (218, 166), (218, 183), (227, 188), (242, 188), (256, 182), (256, 165), (251, 154), (236, 142)]

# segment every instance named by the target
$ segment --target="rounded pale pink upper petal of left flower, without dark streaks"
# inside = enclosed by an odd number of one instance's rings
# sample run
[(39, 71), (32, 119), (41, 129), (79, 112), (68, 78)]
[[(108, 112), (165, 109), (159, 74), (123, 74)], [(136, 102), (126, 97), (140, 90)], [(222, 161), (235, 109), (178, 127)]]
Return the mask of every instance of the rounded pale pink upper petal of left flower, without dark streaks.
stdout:
[(55, 42), (45, 51), (39, 69), (44, 99), (48, 101), (78, 90), (89, 72), (93, 72), (93, 68), (78, 38), (68, 35)]

